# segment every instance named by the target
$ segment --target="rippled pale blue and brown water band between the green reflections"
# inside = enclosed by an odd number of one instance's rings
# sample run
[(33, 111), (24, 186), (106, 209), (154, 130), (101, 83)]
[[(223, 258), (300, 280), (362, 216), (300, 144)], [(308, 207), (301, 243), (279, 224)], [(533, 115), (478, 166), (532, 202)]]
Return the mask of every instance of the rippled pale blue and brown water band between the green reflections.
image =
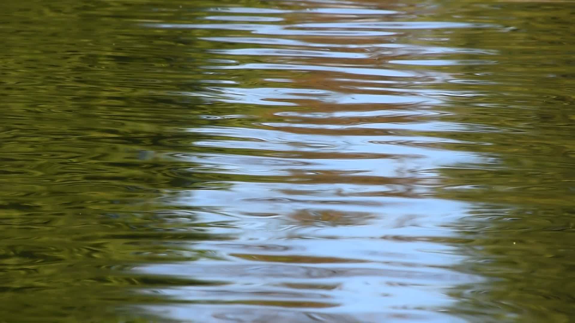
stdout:
[[(461, 257), (437, 243), (454, 237), (446, 224), (471, 209), (432, 197), (437, 170), (485, 158), (440, 148), (465, 142), (436, 133), (470, 126), (437, 117), (454, 98), (476, 93), (442, 89), (461, 78), (458, 68), (409, 65), (487, 64), (493, 52), (410, 39), (421, 30), (496, 27), (405, 21), (409, 13), (390, 10), (397, 6), (291, 6), (298, 9), (214, 7), (197, 23), (144, 25), (223, 30), (200, 38), (214, 48), (206, 50), (212, 64), (200, 69), (204, 83), (229, 85), (178, 93), (213, 105), (204, 117), (214, 122), (187, 129), (200, 136), (190, 144), (201, 151), (171, 157), (229, 186), (182, 191), (170, 203), (217, 210), (229, 219), (233, 242), (194, 244), (221, 255), (217, 261), (137, 270), (218, 281), (159, 290), (203, 304), (170, 306), (179, 320), (191, 309), (204, 313), (200, 321), (447, 320), (440, 309), (454, 299), (445, 288), (481, 278), (450, 269)], [(424, 58), (434, 54), (441, 56)]]

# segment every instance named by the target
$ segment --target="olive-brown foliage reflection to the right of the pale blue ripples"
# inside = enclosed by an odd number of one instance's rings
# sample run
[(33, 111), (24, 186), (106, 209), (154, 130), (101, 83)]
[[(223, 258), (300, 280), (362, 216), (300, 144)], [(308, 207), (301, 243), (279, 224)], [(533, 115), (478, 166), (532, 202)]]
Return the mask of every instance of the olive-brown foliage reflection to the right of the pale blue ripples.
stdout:
[[(444, 10), (465, 12), (466, 6), (458, 2)], [(571, 18), (558, 4), (545, 10), (539, 3), (500, 6), (489, 11), (499, 15), (489, 22), (508, 21), (515, 32), (450, 35), (454, 44), (500, 51), (493, 57), (497, 64), (481, 66), (481, 72), (465, 68), (462, 79), (469, 82), (451, 84), (484, 94), (454, 99), (457, 105), (441, 118), (469, 130), (429, 133), (460, 142), (442, 148), (478, 157), (475, 164), (442, 168), (444, 184), (436, 189), (439, 197), (477, 205), (453, 225), (469, 256), (460, 269), (488, 278), (451, 290), (461, 300), (451, 311), (478, 322), (568, 322), (575, 316), (575, 122), (566, 109), (573, 102), (566, 93), (575, 84), (565, 60), (575, 47), (564, 28)], [(473, 18), (473, 11), (467, 14), (460, 17)]]

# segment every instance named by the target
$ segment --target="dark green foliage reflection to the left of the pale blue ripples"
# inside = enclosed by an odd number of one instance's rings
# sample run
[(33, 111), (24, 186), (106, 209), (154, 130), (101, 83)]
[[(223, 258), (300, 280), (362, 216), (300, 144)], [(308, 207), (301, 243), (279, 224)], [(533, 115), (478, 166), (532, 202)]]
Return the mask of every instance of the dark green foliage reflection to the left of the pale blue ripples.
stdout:
[(208, 282), (132, 266), (206, 257), (183, 241), (225, 239), (197, 224), (198, 208), (161, 199), (205, 186), (169, 157), (203, 112), (170, 93), (201, 75), (178, 34), (132, 20), (153, 7), (122, 3), (3, 3), (0, 321), (140, 322), (114, 311), (160, 301), (139, 286)]

